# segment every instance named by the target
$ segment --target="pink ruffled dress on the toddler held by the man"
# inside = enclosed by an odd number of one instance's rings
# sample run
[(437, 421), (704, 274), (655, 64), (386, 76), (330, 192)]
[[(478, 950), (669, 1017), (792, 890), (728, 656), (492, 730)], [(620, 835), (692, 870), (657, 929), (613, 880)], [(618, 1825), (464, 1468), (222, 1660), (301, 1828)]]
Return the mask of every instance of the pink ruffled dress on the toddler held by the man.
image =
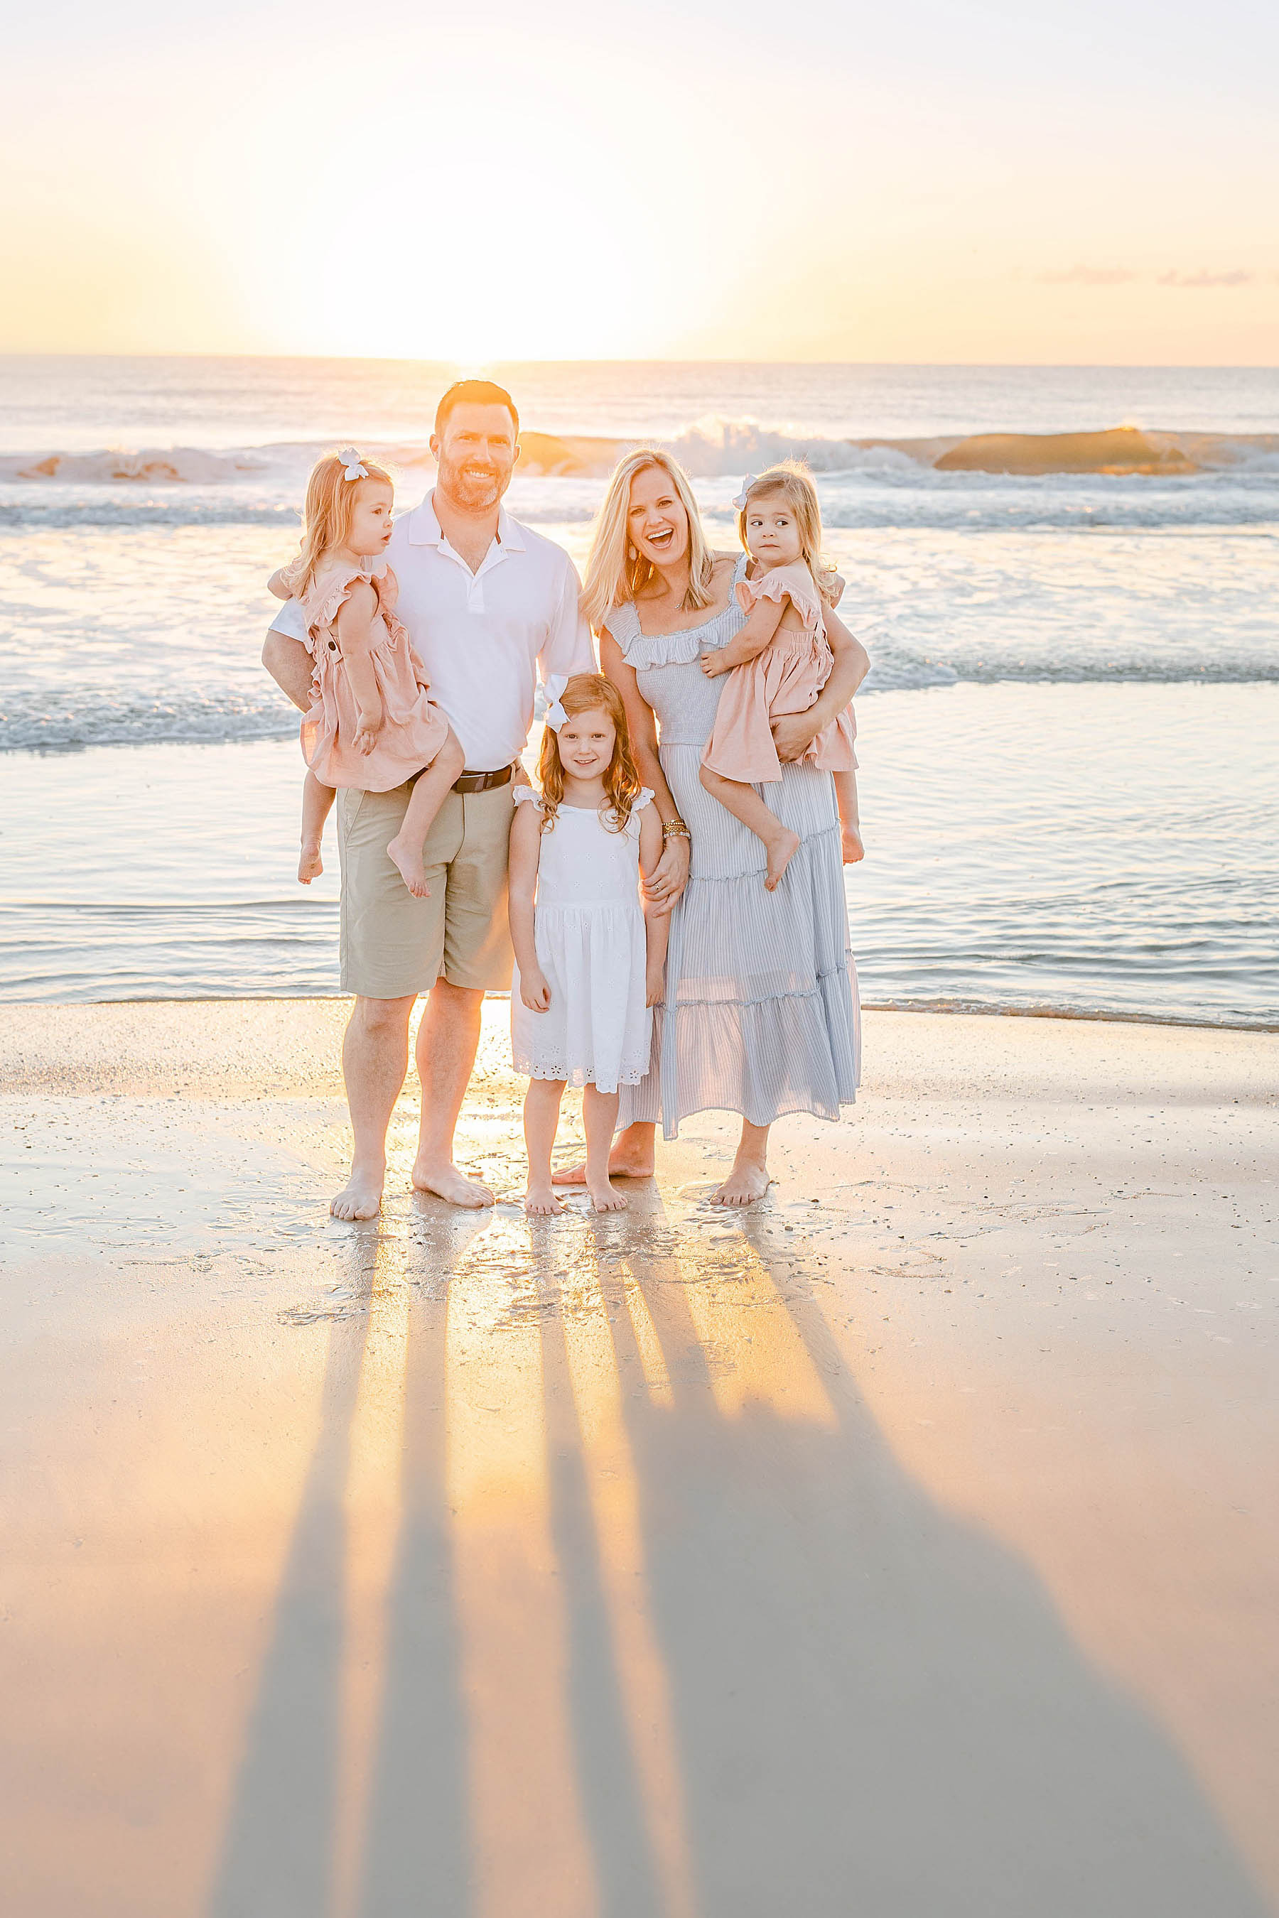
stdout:
[[(284, 577), (288, 583), (288, 573)], [(337, 614), (360, 579), (378, 595), (370, 658), (384, 717), (372, 752), (355, 748), (359, 704), (337, 644)], [(449, 721), (430, 696), (430, 681), (408, 629), (395, 618), (397, 595), (391, 568), (382, 562), (374, 572), (372, 560), (364, 566), (326, 566), (297, 595), (307, 616), (307, 652), (314, 662), (301, 750), (324, 786), (391, 792), (430, 765), (449, 737)]]

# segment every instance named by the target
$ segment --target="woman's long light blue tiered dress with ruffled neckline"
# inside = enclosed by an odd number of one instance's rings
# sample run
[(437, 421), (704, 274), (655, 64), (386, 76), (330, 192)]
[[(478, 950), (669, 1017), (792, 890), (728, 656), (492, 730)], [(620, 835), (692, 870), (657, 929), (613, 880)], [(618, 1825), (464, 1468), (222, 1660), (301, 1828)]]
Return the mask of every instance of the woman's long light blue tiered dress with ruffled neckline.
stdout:
[[(734, 583), (744, 566), (742, 558)], [(727, 683), (706, 677), (700, 654), (725, 646), (742, 625), (736, 595), (713, 620), (679, 633), (642, 633), (633, 604), (608, 620), (658, 719), (662, 771), (692, 832), (650, 1070), (640, 1086), (621, 1088), (617, 1114), (619, 1126), (660, 1120), (667, 1139), (681, 1120), (706, 1111), (740, 1112), (756, 1126), (782, 1112), (838, 1118), (861, 1072), (830, 773), (790, 763), (780, 783), (756, 788), (802, 840), (777, 892), (763, 890), (761, 840), (698, 777)]]

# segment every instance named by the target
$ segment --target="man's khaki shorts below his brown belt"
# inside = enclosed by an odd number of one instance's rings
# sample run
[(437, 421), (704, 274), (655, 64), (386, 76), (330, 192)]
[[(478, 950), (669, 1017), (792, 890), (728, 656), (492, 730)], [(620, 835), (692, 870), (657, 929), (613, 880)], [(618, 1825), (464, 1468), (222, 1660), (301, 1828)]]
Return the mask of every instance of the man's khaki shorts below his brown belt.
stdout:
[(487, 792), (451, 792), (426, 834), (430, 900), (414, 900), (387, 857), (412, 784), (337, 794), (341, 854), (341, 990), (362, 999), (407, 999), (437, 978), (510, 992), (514, 953), (506, 924), (506, 844), (514, 781)]

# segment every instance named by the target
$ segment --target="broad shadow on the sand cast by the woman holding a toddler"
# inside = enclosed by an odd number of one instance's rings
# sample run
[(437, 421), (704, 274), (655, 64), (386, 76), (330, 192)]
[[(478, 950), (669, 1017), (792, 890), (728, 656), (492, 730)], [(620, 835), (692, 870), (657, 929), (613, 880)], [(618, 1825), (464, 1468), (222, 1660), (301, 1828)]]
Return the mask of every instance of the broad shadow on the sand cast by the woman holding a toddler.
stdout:
[[(834, 1429), (725, 1417), (685, 1283), (635, 1233), (625, 1256), (673, 1385), (652, 1402), (617, 1310), (702, 1918), (1262, 1918), (1187, 1765), (1028, 1567), (901, 1471), (790, 1270)], [(639, 1883), (608, 1908), (658, 1910)]]

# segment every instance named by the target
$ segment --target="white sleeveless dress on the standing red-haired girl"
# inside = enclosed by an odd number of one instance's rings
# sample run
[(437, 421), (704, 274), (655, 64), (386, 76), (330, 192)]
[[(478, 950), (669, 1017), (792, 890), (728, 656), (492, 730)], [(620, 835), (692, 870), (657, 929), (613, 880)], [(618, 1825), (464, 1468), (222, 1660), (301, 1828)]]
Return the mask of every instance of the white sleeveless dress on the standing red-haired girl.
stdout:
[[(516, 786), (516, 806), (537, 806)], [(516, 1072), (617, 1091), (639, 1086), (652, 1051), (644, 913), (639, 900), (639, 821), (644, 788), (621, 832), (594, 809), (558, 806), (541, 836), (533, 944), (550, 986), (550, 1007), (533, 1013), (510, 986), (510, 1051)]]

